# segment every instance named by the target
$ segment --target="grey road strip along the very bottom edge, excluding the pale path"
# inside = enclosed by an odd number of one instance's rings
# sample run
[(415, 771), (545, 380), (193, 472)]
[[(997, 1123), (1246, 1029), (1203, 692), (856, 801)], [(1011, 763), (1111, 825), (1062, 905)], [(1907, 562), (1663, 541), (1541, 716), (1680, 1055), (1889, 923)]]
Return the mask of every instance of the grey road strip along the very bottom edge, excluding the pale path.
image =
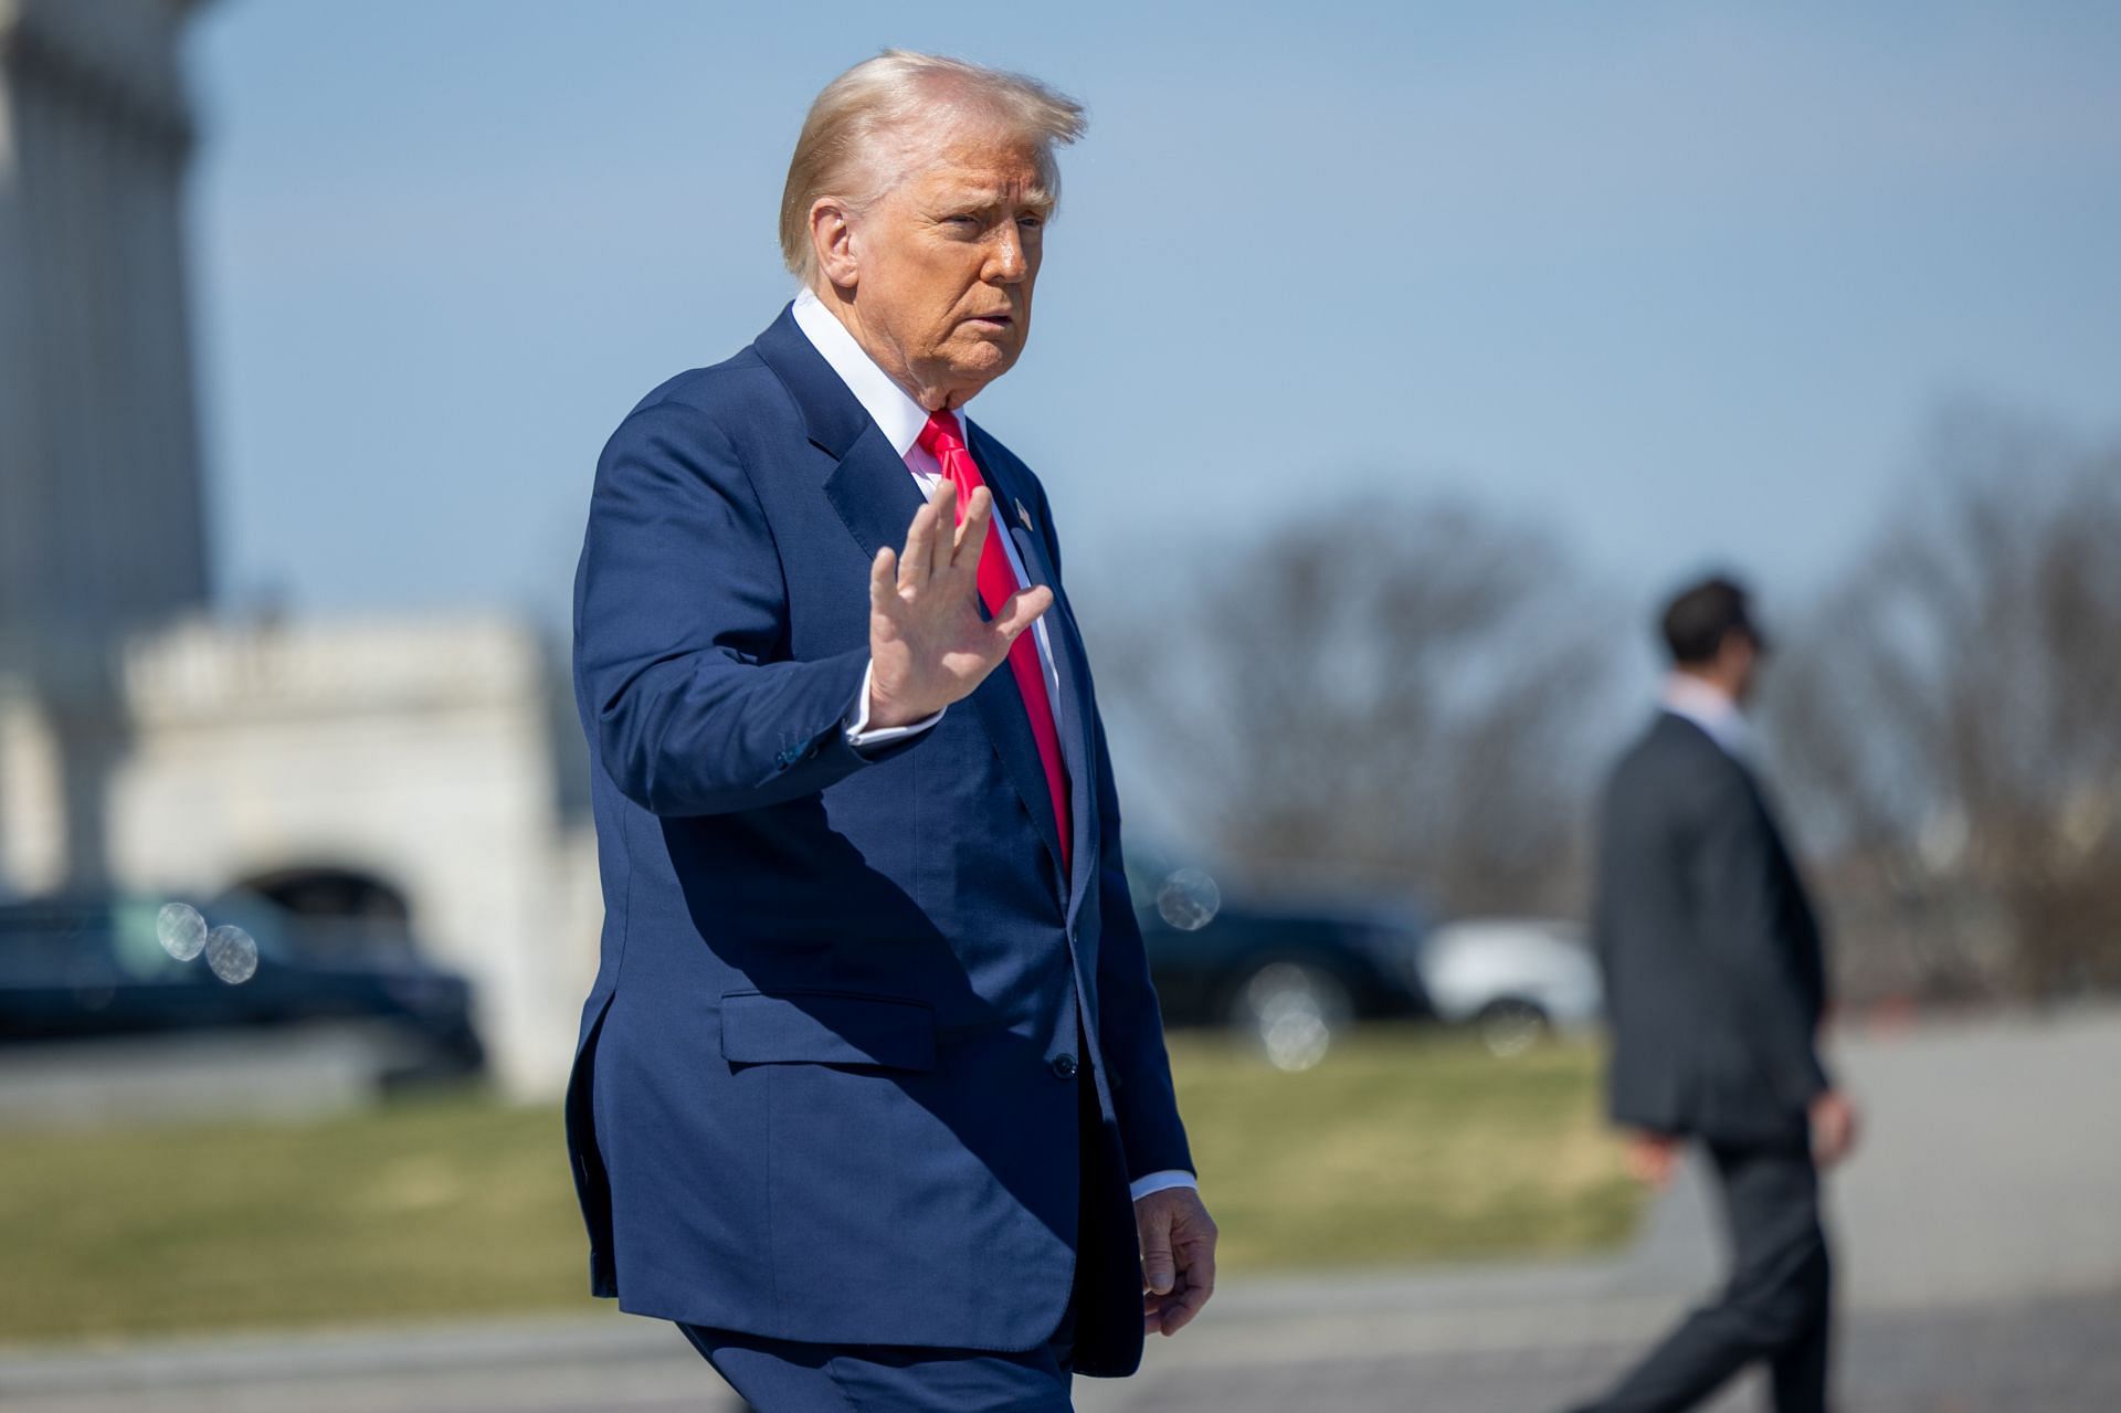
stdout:
[[(1548, 1413), (1597, 1392), (1663, 1311), (1463, 1311), (1294, 1328), (1226, 1322), (1158, 1341), (1128, 1381), (1077, 1383), (1082, 1413)], [(1550, 1326), (1550, 1328), (1533, 1328)], [(2113, 1413), (2121, 1409), (2121, 1292), (2002, 1309), (1856, 1315), (1843, 1413)], [(11, 1413), (736, 1413), (666, 1328), (458, 1332), (363, 1366), (337, 1349), (223, 1356), (191, 1366), (119, 1360), (100, 1377), (11, 1364)], [(378, 1354), (378, 1351), (367, 1351)], [(87, 1383), (100, 1385), (89, 1388)], [(1763, 1407), (1748, 1385), (1714, 1413)]]

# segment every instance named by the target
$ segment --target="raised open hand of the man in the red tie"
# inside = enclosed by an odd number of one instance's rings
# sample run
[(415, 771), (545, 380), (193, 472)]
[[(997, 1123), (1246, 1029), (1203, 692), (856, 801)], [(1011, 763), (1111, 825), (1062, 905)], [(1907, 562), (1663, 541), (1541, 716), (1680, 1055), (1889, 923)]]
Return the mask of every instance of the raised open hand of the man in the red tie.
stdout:
[(1052, 607), (1052, 590), (1018, 590), (980, 617), (980, 552), (995, 518), (986, 486), (957, 522), (957, 486), (942, 479), (914, 513), (906, 550), (870, 564), (870, 726), (912, 726), (971, 696), (1010, 656), (1016, 634)]

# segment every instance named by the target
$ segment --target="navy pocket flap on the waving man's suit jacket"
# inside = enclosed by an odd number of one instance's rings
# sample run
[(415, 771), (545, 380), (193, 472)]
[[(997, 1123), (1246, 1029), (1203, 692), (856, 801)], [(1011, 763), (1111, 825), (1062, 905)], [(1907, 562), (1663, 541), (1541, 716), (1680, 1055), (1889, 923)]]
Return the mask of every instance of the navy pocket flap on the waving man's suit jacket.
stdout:
[(744, 991), (721, 997), (721, 1057), (732, 1065), (935, 1067), (935, 1010), (844, 991)]

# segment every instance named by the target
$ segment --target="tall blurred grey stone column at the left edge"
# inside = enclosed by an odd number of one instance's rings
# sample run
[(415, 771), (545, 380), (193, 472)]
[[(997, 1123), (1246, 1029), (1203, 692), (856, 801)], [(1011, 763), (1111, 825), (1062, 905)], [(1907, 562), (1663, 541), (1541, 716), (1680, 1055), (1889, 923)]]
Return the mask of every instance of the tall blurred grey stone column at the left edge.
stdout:
[(57, 743), (66, 874), (104, 874), (117, 653), (204, 607), (180, 0), (0, 0), (0, 673)]

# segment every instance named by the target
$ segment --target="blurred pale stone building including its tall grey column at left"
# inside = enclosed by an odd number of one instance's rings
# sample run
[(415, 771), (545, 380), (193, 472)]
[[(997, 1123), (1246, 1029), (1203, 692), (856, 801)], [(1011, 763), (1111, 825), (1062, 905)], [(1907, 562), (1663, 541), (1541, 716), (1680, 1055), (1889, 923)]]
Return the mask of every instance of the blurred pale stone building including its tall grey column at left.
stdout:
[(594, 970), (549, 653), (494, 615), (212, 613), (185, 0), (0, 0), (0, 893), (403, 914), (547, 1095)]

